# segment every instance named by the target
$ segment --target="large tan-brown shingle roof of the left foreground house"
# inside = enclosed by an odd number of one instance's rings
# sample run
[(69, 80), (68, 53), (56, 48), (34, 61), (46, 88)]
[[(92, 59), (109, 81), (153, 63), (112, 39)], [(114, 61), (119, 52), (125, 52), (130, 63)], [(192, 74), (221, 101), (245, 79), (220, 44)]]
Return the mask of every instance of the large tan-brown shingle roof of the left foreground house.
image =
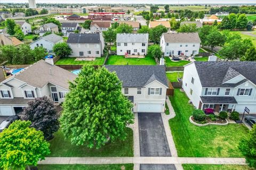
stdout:
[(61, 69), (56, 65), (40, 60), (35, 64), (26, 67), (23, 71), (13, 75), (15, 79), (26, 82), (35, 88), (43, 88), (45, 84), (52, 83), (62, 88), (68, 89), (68, 81), (73, 81), (76, 75)]

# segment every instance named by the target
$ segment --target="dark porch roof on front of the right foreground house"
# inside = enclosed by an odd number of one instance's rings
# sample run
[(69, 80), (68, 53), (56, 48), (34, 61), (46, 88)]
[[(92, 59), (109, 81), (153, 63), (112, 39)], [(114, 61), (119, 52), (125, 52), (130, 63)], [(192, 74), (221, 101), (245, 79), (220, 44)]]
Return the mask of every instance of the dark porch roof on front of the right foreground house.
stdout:
[(201, 100), (207, 104), (237, 104), (235, 97), (201, 96)]

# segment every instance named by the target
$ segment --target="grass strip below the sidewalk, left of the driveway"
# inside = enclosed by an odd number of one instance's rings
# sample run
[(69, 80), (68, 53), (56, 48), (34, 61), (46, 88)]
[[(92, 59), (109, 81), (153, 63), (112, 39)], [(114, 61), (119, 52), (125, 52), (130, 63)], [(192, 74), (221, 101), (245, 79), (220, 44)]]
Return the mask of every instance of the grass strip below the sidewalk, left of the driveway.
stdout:
[(38, 169), (40, 170), (119, 170), (121, 167), (124, 166), (125, 170), (132, 170), (133, 164), (109, 164), (109, 165), (37, 165)]

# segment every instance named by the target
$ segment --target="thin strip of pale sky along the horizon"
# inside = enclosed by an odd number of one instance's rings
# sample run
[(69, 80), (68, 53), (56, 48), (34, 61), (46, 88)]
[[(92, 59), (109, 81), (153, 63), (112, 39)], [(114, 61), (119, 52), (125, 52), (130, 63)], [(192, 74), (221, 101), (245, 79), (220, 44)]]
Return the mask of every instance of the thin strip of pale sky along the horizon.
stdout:
[[(179, 1), (179, 2), (178, 2)], [(26, 3), (28, 0), (0, 0), (2, 3)], [(256, 4), (255, 0), (36, 0), (36, 3), (99, 3), (99, 4)]]

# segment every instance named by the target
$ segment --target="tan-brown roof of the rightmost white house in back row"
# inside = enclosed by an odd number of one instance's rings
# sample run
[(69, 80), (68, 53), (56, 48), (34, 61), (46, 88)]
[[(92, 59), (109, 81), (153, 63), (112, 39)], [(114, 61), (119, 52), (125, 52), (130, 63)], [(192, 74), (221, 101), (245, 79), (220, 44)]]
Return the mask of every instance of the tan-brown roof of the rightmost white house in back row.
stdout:
[(163, 33), (165, 43), (201, 43), (197, 32)]

